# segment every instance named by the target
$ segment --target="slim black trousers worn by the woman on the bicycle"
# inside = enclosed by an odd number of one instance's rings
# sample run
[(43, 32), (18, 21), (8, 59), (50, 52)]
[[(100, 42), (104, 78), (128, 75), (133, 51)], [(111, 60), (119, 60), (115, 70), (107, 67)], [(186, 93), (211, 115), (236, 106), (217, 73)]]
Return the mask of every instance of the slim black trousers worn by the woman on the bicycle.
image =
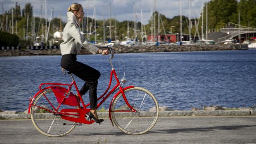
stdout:
[(85, 81), (80, 89), (84, 95), (89, 90), (90, 108), (97, 108), (97, 86), (100, 72), (86, 64), (76, 61), (76, 54), (65, 54), (62, 56), (60, 66)]

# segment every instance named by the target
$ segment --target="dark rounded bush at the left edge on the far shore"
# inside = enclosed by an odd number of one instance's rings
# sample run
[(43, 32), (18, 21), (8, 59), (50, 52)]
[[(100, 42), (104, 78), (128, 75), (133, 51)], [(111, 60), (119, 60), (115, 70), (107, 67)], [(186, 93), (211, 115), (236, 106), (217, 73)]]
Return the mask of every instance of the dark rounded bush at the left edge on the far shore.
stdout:
[(0, 46), (18, 46), (19, 39), (16, 34), (0, 31)]

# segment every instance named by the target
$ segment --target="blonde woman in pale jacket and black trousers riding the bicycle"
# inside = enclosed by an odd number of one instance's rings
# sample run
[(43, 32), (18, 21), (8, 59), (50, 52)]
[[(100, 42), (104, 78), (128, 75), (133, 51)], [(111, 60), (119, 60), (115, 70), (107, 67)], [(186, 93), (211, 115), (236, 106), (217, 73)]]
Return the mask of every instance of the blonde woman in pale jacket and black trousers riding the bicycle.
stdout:
[(68, 22), (63, 30), (62, 39), (64, 42), (60, 44), (62, 54), (60, 66), (69, 72), (75, 74), (85, 81), (84, 86), (80, 89), (80, 94), (84, 95), (89, 90), (90, 112), (88, 117), (96, 123), (100, 123), (103, 119), (99, 119), (97, 109), (97, 85), (100, 72), (86, 64), (76, 61), (76, 55), (81, 50), (81, 46), (96, 54), (97, 52), (103, 55), (109, 54), (108, 50), (100, 50), (93, 44), (87, 42), (84, 36), (80, 33), (79, 19), (84, 18), (84, 9), (81, 4), (72, 4), (67, 12)]

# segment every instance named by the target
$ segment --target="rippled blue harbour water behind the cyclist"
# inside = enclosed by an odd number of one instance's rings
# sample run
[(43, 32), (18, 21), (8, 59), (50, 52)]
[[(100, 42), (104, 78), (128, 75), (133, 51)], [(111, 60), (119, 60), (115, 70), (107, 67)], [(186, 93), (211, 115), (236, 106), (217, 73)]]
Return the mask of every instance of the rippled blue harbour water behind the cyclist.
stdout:
[[(128, 85), (152, 92), (160, 106), (174, 110), (218, 105), (249, 107), (256, 104), (256, 50), (120, 54)], [(0, 57), (0, 109), (23, 112), (29, 97), (45, 82), (70, 83), (63, 76), (61, 56)], [(121, 60), (122, 60), (121, 59)], [(114, 66), (118, 71), (118, 55)], [(78, 55), (78, 61), (101, 72), (98, 96), (108, 86), (108, 56)], [(122, 61), (121, 61), (122, 62)], [(124, 67), (120, 66), (120, 77)], [(84, 84), (75, 77), (78, 87)], [(113, 83), (115, 84), (115, 83)], [(74, 92), (74, 88), (73, 88)], [(75, 93), (75, 92), (74, 92)], [(83, 96), (88, 102), (88, 94)], [(108, 109), (112, 96), (103, 106)]]

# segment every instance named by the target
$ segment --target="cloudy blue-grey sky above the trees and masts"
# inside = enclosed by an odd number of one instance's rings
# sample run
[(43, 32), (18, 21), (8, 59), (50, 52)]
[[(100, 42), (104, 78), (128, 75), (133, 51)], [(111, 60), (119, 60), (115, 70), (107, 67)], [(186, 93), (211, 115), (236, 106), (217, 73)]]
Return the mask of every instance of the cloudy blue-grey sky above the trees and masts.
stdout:
[[(93, 18), (94, 7), (96, 5), (96, 19), (103, 20), (110, 18), (110, 4), (111, 4), (111, 18), (115, 18), (118, 21), (134, 20), (133, 2), (135, 6), (135, 12), (137, 14), (137, 21), (143, 24), (148, 24), (148, 20), (151, 16), (151, 9), (154, 10), (154, 0), (46, 0), (47, 10), (46, 16), (50, 19), (52, 8), (54, 8), (53, 16), (59, 17), (61, 14), (62, 20), (66, 21), (66, 12), (68, 7), (73, 3), (82, 4), (84, 12), (86, 13), (87, 7), (89, 17)], [(182, 0), (182, 15), (189, 16), (189, 2), (191, 1), (191, 18), (197, 18), (200, 15), (200, 10), (204, 2), (210, 0)], [(33, 6), (35, 16), (40, 16), (41, 5), (43, 5), (43, 17), (45, 18), (45, 0), (0, 0), (0, 13), (2, 14), (2, 4), (4, 4), (4, 11), (10, 10), (15, 7), (15, 3), (20, 4), (21, 10), (25, 4), (30, 2)], [(103, 16), (104, 5), (104, 16)], [(142, 10), (142, 17), (141, 17)], [(164, 14), (167, 18), (173, 18), (180, 15), (180, 0), (156, 0), (156, 11), (160, 14)], [(86, 14), (84, 15), (86, 16)]]

